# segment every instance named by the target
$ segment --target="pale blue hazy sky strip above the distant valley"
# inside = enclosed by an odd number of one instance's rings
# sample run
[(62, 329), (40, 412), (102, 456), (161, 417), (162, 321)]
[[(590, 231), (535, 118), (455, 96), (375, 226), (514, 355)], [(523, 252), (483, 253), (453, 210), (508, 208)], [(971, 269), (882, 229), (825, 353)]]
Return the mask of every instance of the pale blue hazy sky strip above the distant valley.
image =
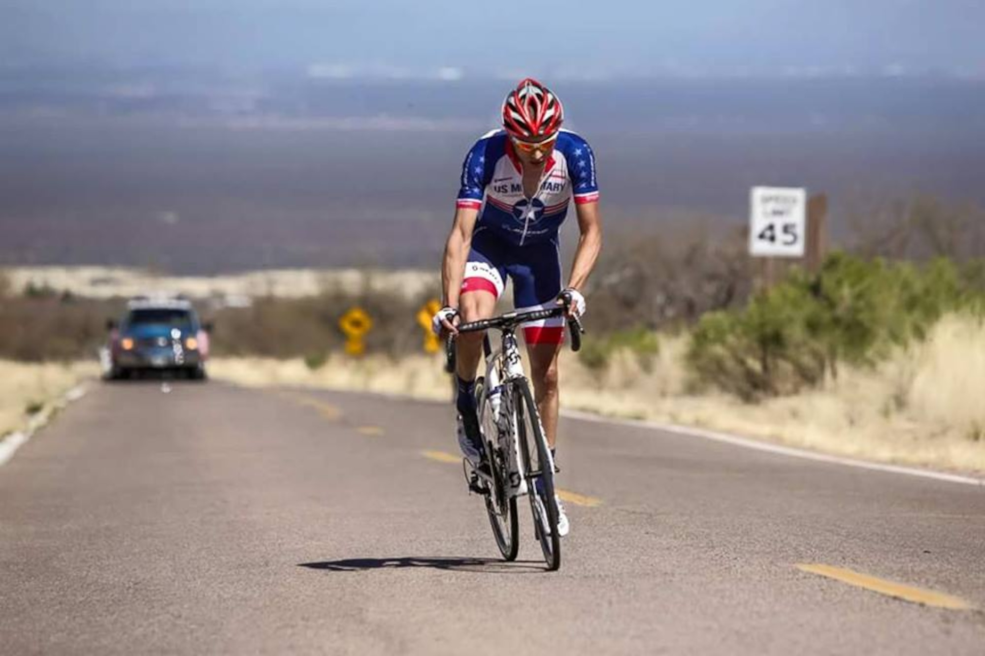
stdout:
[(983, 26), (985, 0), (0, 0), (0, 62), (985, 75)]

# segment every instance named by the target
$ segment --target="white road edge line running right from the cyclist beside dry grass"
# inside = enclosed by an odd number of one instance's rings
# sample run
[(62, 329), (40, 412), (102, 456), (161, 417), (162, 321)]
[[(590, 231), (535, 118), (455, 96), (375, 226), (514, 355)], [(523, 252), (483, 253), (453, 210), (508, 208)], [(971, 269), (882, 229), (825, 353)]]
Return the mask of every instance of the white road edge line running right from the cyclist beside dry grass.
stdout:
[(617, 426), (635, 426), (638, 428), (649, 428), (651, 430), (663, 430), (665, 432), (671, 432), (678, 435), (687, 435), (689, 437), (701, 437), (703, 439), (710, 439), (716, 442), (723, 442), (726, 444), (733, 444), (735, 446), (743, 446), (750, 449), (755, 449), (757, 451), (766, 451), (767, 453), (776, 453), (779, 455), (790, 456), (792, 458), (803, 458), (805, 460), (815, 460), (818, 462), (826, 462), (836, 465), (844, 465), (846, 467), (856, 467), (859, 469), (868, 469), (876, 472), (886, 472), (889, 474), (903, 474), (906, 476), (917, 476), (925, 479), (934, 479), (936, 481), (947, 481), (948, 483), (960, 483), (970, 486), (985, 486), (985, 479), (976, 479), (969, 476), (958, 476), (957, 474), (945, 474), (944, 472), (933, 472), (925, 469), (915, 469), (912, 467), (900, 467), (898, 465), (882, 465), (874, 462), (866, 462), (865, 460), (855, 460), (854, 458), (843, 458), (840, 456), (826, 455), (823, 453), (816, 453), (814, 451), (808, 451), (806, 449), (798, 449), (792, 446), (780, 446), (778, 444), (768, 444), (766, 442), (760, 442), (749, 437), (740, 437), (738, 435), (729, 434), (726, 432), (717, 432), (714, 430), (705, 430), (703, 428), (692, 428), (689, 426), (678, 426), (676, 424), (658, 424), (655, 422), (645, 422), (642, 420), (626, 420), (617, 419), (611, 417), (600, 417), (598, 415), (592, 415), (590, 413), (585, 413), (577, 410), (563, 410), (561, 415), (569, 417), (575, 420), (581, 420), (584, 422), (594, 422), (596, 424), (610, 424)]

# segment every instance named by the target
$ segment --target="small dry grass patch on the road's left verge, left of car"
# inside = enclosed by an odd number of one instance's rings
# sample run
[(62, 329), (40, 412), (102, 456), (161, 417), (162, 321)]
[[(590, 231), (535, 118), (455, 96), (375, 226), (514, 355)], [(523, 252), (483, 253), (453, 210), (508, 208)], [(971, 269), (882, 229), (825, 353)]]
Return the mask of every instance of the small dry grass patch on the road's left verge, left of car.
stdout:
[(83, 378), (99, 375), (95, 362), (31, 364), (0, 361), (0, 436), (21, 430)]

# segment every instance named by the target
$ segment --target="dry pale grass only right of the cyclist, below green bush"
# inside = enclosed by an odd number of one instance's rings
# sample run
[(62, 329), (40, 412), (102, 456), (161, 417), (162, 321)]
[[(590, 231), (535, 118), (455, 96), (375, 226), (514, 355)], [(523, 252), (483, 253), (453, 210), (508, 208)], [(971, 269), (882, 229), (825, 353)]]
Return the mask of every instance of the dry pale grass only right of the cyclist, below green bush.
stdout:
[[(846, 368), (819, 389), (748, 405), (682, 393), (683, 345), (653, 374), (565, 388), (566, 404), (606, 415), (727, 430), (851, 457), (985, 472), (985, 324), (950, 316), (876, 369)], [(626, 380), (633, 378), (627, 376)], [(589, 379), (590, 380), (590, 379)], [(622, 384), (621, 384), (622, 383)]]

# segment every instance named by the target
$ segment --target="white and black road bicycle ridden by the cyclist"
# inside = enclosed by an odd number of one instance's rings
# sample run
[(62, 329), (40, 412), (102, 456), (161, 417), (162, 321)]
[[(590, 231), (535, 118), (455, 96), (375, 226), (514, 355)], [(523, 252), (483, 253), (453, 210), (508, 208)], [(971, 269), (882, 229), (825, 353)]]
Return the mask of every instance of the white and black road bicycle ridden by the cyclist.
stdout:
[[(534, 535), (540, 542), (544, 560), (551, 571), (560, 566), (558, 505), (555, 497), (554, 458), (548, 446), (544, 426), (534, 403), (530, 382), (523, 372), (523, 362), (516, 340), (516, 328), (529, 321), (539, 321), (567, 313), (570, 298), (562, 295), (562, 305), (548, 309), (512, 311), (491, 319), (458, 326), (459, 333), (496, 329), (500, 347), (493, 351), (487, 334), (483, 341), (486, 375), (476, 380), (476, 403), (483, 444), (485, 467), (477, 468), (465, 459), (466, 480), (473, 492), (481, 493), (486, 502), (493, 537), (506, 560), (514, 560), (520, 549), (517, 497), (526, 495), (534, 516)], [(577, 318), (568, 318), (571, 350), (581, 348), (584, 329)], [(448, 371), (455, 371), (454, 338), (447, 342)]]

